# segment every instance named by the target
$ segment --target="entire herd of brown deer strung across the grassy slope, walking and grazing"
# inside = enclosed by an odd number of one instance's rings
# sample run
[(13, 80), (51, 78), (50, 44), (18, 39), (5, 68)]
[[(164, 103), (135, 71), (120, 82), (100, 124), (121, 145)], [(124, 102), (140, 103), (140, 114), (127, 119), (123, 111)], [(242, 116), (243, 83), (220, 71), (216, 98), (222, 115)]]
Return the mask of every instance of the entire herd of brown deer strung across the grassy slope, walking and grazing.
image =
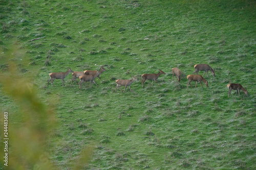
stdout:
[[(202, 85), (202, 82), (205, 83), (205, 85), (208, 87), (208, 82), (207, 80), (205, 80), (203, 78), (204, 74), (205, 74), (205, 71), (207, 72), (207, 77), (208, 77), (208, 71), (211, 72), (212, 76), (215, 77), (215, 72), (214, 70), (208, 65), (208, 64), (196, 64), (194, 65), (195, 67), (195, 71), (193, 73), (193, 75), (188, 75), (187, 76), (187, 79), (188, 79), (188, 83), (187, 83), (187, 88), (188, 88), (188, 85), (190, 85), (192, 88), (193, 88), (193, 85), (190, 84), (191, 81), (195, 81), (196, 82), (196, 86), (197, 87), (197, 83), (199, 82), (201, 84), (201, 86), (203, 87)], [(53, 81), (55, 79), (61, 79), (62, 80), (62, 85), (64, 85), (65, 81), (65, 77), (70, 73), (72, 72), (72, 75), (73, 75), (73, 78), (71, 79), (71, 85), (73, 84), (73, 81), (76, 82), (76, 78), (79, 78), (80, 79), (80, 82), (79, 82), (79, 89), (82, 89), (82, 83), (84, 84), (84, 82), (90, 82), (90, 86), (91, 87), (91, 83), (94, 83), (97, 87), (98, 85), (95, 83), (95, 78), (98, 77), (100, 79), (100, 75), (102, 74), (103, 71), (106, 71), (103, 66), (101, 66), (100, 70), (97, 71), (97, 70), (85, 70), (83, 72), (80, 72), (80, 71), (73, 71), (72, 69), (70, 69), (69, 67), (69, 70), (66, 71), (66, 72), (51, 72), (49, 74), (50, 76), (50, 79), (48, 80), (48, 84), (47, 86), (49, 85), (50, 81), (52, 81), (52, 85), (54, 86), (53, 84)], [(173, 80), (174, 80), (174, 75), (176, 76), (177, 78), (177, 81), (180, 82), (181, 81), (181, 70), (179, 68), (172, 68), (172, 71), (173, 71)], [(204, 71), (204, 74), (203, 76), (201, 75), (198, 75), (198, 72), (199, 71)], [(195, 75), (195, 73), (197, 73), (197, 75)], [(165, 72), (163, 72), (162, 70), (159, 69), (159, 72), (158, 74), (143, 74), (141, 75), (141, 78), (142, 78), (142, 88), (144, 88), (144, 82), (146, 80), (152, 80), (152, 86), (153, 86), (153, 83), (154, 81), (156, 81), (160, 86), (161, 84), (157, 81), (158, 77), (160, 75), (165, 75)], [(101, 79), (100, 79), (101, 80)], [(101, 80), (102, 81), (102, 80)], [(120, 86), (124, 86), (124, 90), (122, 91), (121, 89), (121, 92), (124, 92), (126, 87), (128, 86), (130, 91), (132, 92), (131, 90), (131, 87), (130, 85), (134, 82), (134, 81), (138, 81), (137, 78), (135, 78), (134, 76), (132, 76), (132, 79), (131, 80), (121, 80), (121, 79), (118, 79), (116, 80), (116, 88), (118, 87), (120, 89)], [(102, 81), (102, 83), (104, 83)], [(77, 82), (76, 82), (77, 84)], [(55, 86), (54, 86), (55, 87)], [(115, 88), (115, 92), (116, 92), (116, 88)], [(229, 89), (228, 91), (228, 98), (229, 98), (229, 94), (231, 96), (231, 90), (236, 90), (236, 95), (237, 95), (237, 92), (240, 96), (240, 90), (243, 90), (243, 92), (248, 95), (248, 91), (241, 85), (241, 84), (236, 84), (236, 83), (230, 83), (227, 85), (227, 88)]]

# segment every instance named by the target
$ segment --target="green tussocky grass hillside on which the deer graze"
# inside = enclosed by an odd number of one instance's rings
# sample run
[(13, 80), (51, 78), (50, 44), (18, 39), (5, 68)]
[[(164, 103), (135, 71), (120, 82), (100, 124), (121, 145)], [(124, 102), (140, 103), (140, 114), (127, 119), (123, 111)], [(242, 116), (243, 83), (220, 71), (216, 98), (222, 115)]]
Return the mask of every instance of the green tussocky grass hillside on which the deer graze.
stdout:
[[(0, 72), (8, 76), (14, 62), (20, 77), (32, 76), (40, 101), (55, 106), (58, 127), (45, 147), (56, 167), (70, 169), (93, 146), (86, 169), (255, 168), (254, 1), (1, 0), (0, 7)], [(201, 63), (216, 77), (204, 76), (208, 88), (187, 88)], [(80, 90), (72, 74), (65, 86), (47, 86), (50, 72), (100, 66), (107, 71), (99, 87)], [(159, 69), (161, 87), (147, 80), (142, 88), (141, 75)], [(132, 75), (134, 92), (115, 93), (115, 80)], [(249, 95), (228, 98), (229, 83)], [(19, 105), (0, 89), (1, 108), (22, 127)]]

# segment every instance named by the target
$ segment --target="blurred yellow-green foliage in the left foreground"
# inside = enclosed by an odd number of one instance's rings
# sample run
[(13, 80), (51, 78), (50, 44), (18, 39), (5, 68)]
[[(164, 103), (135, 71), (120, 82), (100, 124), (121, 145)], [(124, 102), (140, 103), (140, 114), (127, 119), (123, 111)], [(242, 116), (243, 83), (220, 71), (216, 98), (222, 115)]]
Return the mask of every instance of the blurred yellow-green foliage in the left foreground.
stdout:
[[(17, 55), (25, 55), (22, 51), (15, 50), (14, 53), (6, 53), (8, 59)], [(4, 57), (4, 58), (6, 58)], [(2, 56), (3, 59), (3, 56)], [(9, 60), (10, 61), (10, 60)], [(24, 62), (26, 63), (26, 62)], [(2, 167), (8, 169), (58, 169), (49, 159), (49, 145), (54, 146), (51, 135), (57, 127), (54, 106), (58, 100), (49, 99), (49, 106), (40, 101), (37, 90), (33, 85), (33, 75), (28, 76), (22, 73), (15, 66), (15, 63), (9, 62), (8, 70), (0, 75), (0, 85), (2, 87), (1, 95), (8, 96), (13, 100), (18, 111), (8, 111), (8, 166), (1, 161)], [(4, 114), (1, 114), (4, 115)], [(18, 117), (18, 120), (15, 118)], [(14, 121), (12, 121), (14, 120)], [(0, 126), (4, 131), (4, 116), (1, 116)], [(1, 133), (1, 138), (5, 138)], [(1, 157), (4, 156), (4, 144), (0, 145)], [(79, 169), (92, 154), (92, 147), (84, 149), (82, 157), (74, 165), (74, 169)], [(1, 167), (1, 166), (0, 166)]]

